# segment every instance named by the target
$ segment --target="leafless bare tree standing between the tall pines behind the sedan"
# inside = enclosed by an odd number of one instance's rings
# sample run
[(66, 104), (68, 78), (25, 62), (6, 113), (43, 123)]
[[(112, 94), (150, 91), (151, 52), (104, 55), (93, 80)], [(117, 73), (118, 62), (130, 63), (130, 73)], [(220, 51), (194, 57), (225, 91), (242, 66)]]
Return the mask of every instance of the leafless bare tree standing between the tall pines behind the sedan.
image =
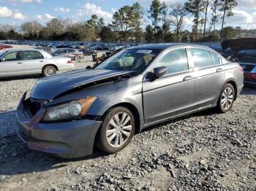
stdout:
[(176, 2), (170, 6), (170, 24), (175, 26), (176, 36), (180, 34), (181, 28), (184, 25), (184, 17), (187, 14), (187, 9), (180, 2)]

